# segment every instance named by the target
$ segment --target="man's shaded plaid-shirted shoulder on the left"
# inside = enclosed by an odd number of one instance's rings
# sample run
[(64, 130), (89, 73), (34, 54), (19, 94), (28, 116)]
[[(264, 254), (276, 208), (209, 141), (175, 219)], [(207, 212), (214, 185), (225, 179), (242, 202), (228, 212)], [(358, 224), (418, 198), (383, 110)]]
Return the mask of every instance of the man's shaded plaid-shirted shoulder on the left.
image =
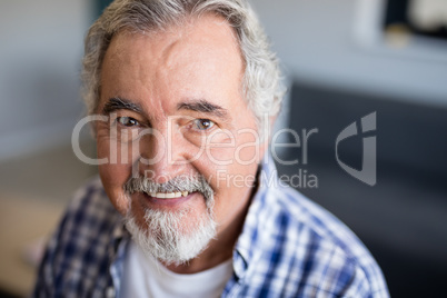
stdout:
[(121, 216), (110, 203), (100, 179), (91, 179), (74, 193), (48, 242), (34, 295), (89, 296), (93, 284), (107, 282), (109, 248), (119, 225)]

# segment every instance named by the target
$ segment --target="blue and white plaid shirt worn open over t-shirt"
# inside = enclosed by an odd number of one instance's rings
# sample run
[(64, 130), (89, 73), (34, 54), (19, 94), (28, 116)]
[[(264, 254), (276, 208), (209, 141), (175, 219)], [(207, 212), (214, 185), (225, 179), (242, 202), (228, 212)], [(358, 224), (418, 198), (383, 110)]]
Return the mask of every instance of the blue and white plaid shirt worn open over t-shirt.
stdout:
[[(33, 297), (116, 297), (131, 241), (97, 178), (76, 193), (48, 244)], [(264, 162), (222, 297), (389, 297), (358, 238), (282, 186)]]

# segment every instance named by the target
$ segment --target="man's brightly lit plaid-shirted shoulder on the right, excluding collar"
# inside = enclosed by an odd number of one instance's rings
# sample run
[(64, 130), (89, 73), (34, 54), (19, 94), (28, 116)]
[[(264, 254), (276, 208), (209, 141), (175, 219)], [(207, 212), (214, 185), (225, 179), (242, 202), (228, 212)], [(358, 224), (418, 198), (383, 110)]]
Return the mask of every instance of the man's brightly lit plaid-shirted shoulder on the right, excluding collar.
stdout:
[(272, 280), (282, 294), (288, 291), (285, 296), (388, 297), (377, 262), (334, 215), (280, 183), (268, 188), (261, 201), (259, 261), (268, 259)]

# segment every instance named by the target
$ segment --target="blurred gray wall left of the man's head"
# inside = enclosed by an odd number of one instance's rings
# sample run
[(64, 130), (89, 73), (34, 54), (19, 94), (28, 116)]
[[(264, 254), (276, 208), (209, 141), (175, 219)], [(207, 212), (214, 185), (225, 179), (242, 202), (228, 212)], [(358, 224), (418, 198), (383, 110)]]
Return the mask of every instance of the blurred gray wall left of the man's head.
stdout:
[(89, 2), (0, 1), (0, 159), (70, 140)]

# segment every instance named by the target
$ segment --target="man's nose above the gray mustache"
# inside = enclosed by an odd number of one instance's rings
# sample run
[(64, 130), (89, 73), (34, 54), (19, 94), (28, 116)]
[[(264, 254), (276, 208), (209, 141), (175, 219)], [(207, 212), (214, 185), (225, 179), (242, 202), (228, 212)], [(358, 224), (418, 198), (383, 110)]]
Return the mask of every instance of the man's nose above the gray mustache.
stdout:
[(141, 176), (165, 183), (185, 171), (186, 146), (180, 133), (150, 129), (140, 137), (139, 147)]

